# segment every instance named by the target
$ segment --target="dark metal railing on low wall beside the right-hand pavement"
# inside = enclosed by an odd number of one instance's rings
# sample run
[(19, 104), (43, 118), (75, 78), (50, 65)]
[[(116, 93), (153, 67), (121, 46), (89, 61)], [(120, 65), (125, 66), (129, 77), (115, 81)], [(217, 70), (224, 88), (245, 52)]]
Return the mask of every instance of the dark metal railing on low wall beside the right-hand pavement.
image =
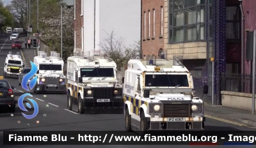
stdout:
[(252, 94), (252, 74), (220, 73), (220, 90)]

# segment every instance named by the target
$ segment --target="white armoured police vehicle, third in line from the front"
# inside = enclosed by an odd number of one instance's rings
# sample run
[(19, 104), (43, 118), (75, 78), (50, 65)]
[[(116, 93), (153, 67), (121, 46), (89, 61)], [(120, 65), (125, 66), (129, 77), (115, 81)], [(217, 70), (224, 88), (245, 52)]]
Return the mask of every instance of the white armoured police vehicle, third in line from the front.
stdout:
[(51, 52), (51, 56), (47, 57), (47, 53), (39, 51), (34, 63), (38, 68), (35, 93), (66, 93), (64, 62), (59, 53)]

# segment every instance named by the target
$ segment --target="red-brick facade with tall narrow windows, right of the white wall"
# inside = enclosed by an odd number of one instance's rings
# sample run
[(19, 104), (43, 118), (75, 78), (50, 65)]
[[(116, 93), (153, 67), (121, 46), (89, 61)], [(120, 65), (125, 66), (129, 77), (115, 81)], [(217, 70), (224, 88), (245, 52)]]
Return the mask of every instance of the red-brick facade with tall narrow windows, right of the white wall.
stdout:
[(164, 0), (141, 0), (141, 49), (143, 55), (164, 48)]

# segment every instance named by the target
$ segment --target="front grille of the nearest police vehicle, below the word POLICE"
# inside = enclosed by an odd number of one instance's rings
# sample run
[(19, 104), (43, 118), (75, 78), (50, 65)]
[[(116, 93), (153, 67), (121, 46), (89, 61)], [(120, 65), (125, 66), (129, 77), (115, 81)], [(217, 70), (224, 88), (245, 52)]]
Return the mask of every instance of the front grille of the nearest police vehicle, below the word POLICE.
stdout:
[(190, 117), (189, 104), (164, 104), (164, 117)]

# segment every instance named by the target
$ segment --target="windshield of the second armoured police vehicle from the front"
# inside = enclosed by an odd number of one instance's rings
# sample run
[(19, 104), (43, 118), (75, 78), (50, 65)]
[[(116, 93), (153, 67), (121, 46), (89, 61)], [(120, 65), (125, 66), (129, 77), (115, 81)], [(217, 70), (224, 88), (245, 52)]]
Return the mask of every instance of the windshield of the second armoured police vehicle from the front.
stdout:
[(114, 77), (113, 68), (81, 68), (81, 77)]

